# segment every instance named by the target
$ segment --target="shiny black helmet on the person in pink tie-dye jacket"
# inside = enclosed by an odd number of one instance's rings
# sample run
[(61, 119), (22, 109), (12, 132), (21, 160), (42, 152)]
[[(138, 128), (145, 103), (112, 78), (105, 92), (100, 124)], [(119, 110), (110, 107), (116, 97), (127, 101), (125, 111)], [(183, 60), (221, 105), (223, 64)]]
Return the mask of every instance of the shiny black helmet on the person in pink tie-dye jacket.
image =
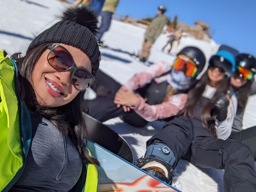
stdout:
[[(188, 47), (184, 47), (178, 54), (183, 54), (186, 55), (187, 57), (189, 57), (192, 61), (194, 61), (197, 66), (198, 66), (198, 72), (196, 74), (196, 76), (202, 72), (204, 66), (205, 66), (205, 56), (204, 53), (197, 47), (194, 46), (188, 46)], [(195, 76), (195, 77), (196, 77)]]

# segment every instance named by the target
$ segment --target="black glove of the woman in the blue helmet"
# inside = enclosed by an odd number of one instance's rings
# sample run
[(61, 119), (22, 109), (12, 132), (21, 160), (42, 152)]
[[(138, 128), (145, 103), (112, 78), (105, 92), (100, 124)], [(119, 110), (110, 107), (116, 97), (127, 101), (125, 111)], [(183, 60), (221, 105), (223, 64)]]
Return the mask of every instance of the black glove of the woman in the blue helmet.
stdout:
[(212, 115), (217, 116), (218, 121), (224, 121), (227, 118), (229, 100), (226, 94), (221, 94), (213, 102), (215, 108), (213, 109)]

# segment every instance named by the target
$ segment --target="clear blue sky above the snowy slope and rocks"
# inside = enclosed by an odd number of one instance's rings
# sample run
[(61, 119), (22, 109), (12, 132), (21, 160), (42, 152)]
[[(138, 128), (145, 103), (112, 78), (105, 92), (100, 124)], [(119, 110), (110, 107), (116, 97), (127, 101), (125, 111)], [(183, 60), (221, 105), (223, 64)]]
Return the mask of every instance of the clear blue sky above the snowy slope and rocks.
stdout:
[(116, 13), (153, 17), (161, 4), (172, 20), (176, 14), (178, 22), (187, 25), (202, 20), (210, 25), (216, 43), (256, 56), (256, 0), (120, 0)]

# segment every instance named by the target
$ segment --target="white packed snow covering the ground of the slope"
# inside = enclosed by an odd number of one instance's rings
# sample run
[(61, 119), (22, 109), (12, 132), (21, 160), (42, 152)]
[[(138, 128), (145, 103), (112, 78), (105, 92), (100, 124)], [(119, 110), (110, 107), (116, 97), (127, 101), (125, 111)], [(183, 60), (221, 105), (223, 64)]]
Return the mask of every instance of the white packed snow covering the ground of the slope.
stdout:
[[(0, 18), (0, 49), (10, 55), (15, 52), (25, 54), (29, 43), (35, 35), (56, 23), (62, 12), (70, 5), (56, 0), (2, 0)], [(100, 69), (120, 83), (125, 83), (135, 73), (143, 71), (146, 65), (127, 54), (138, 53), (141, 49), (145, 29), (119, 21), (112, 22), (110, 30), (103, 36), (109, 48), (101, 48), (102, 61)], [(151, 49), (150, 62), (165, 60), (171, 62), (174, 56), (161, 51), (167, 41), (167, 35), (161, 34)], [(182, 38), (178, 50), (186, 45), (197, 45), (205, 52), (207, 59), (214, 54), (219, 45), (193, 39)], [(93, 97), (93, 92), (87, 93)], [(256, 96), (250, 97), (244, 115), (244, 127), (256, 125)], [(111, 129), (123, 136), (129, 143), (134, 159), (144, 155), (145, 143), (153, 134), (161, 131), (163, 122), (151, 122), (143, 128), (135, 128), (122, 122), (120, 118), (104, 122)], [(223, 170), (202, 170), (185, 160), (176, 167), (173, 186), (181, 191), (223, 191)]]

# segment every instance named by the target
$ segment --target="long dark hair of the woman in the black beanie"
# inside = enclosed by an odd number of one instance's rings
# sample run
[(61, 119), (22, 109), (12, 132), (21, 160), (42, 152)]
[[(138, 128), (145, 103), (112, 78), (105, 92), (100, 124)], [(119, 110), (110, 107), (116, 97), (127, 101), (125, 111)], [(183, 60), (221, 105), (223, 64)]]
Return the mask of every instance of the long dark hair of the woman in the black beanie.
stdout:
[(52, 122), (62, 135), (69, 135), (81, 156), (83, 164), (99, 165), (98, 161), (89, 156), (87, 151), (86, 127), (80, 110), (80, 101), (84, 92), (80, 92), (71, 102), (64, 106), (49, 108), (38, 104), (32, 87), (32, 73), (41, 53), (50, 44), (52, 43), (43, 43), (28, 52), (24, 57), (15, 58), (21, 90), (23, 90), (21, 94), (24, 96), (24, 101), (29, 110)]

